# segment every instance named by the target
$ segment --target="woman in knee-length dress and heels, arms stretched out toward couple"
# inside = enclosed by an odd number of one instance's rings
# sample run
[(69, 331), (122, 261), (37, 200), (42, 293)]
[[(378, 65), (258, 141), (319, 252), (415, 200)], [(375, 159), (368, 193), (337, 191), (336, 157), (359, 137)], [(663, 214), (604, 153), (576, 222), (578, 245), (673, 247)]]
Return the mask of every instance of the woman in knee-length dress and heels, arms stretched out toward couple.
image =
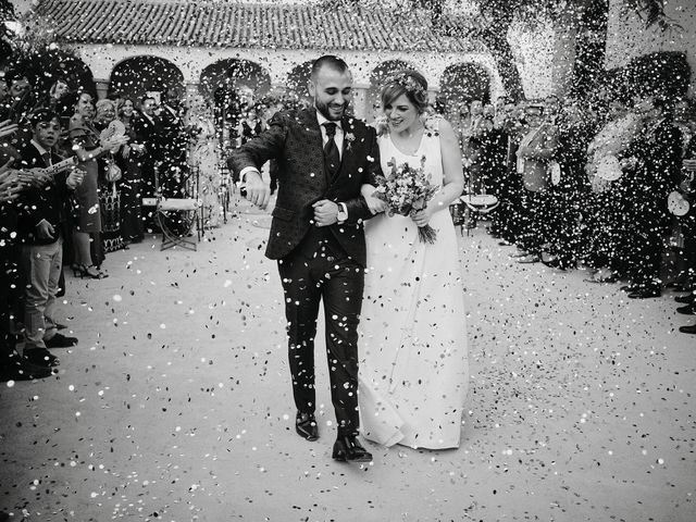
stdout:
[(77, 200), (76, 223), (73, 231), (74, 263), (73, 271), (82, 277), (102, 278), (90, 252), (90, 234), (101, 233), (101, 212), (97, 190), (97, 159), (127, 141), (126, 137), (100, 140), (92, 124), (95, 105), (91, 95), (82, 92), (74, 105), (75, 114), (70, 121), (70, 139), (73, 153), (77, 157), (79, 169), (84, 171), (83, 183), (75, 190)]

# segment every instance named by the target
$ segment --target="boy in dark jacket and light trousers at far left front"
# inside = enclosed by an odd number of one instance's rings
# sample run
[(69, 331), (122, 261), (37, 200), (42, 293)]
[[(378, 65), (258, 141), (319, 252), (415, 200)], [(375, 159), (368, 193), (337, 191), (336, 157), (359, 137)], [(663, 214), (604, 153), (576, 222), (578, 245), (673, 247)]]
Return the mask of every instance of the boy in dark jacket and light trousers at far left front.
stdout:
[[(61, 132), (59, 115), (50, 110), (33, 114), (33, 138), (20, 151), (24, 170), (46, 169), (62, 158), (54, 151)], [(55, 294), (62, 265), (62, 223), (71, 189), (82, 183), (82, 172), (59, 173), (41, 188), (30, 186), (18, 203), (18, 237), (22, 262), (27, 278), (25, 293), (24, 357), (34, 364), (54, 366), (58, 358), (47, 348), (64, 348), (77, 344), (74, 337), (58, 333), (54, 320)]]

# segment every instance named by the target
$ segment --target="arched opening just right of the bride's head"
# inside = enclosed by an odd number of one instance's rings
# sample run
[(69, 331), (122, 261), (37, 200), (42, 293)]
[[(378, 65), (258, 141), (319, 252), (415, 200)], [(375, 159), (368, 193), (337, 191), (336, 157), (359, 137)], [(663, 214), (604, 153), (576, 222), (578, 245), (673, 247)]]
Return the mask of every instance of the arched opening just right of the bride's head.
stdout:
[(490, 102), (490, 75), (476, 63), (455, 63), (443, 72), (438, 99), (446, 113), (471, 100)]

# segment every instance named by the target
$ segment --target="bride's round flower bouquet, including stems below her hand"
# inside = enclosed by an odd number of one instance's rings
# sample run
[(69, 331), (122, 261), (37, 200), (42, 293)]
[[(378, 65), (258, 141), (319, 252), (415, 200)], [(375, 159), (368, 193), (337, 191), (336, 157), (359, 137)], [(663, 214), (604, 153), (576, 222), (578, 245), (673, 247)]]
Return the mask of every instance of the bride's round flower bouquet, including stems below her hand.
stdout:
[[(396, 164), (396, 160), (387, 163), (391, 172), (377, 177), (377, 188), (373, 196), (387, 203), (387, 215), (410, 215), (423, 210), (439, 187), (432, 185), (430, 175), (425, 174), (425, 157), (421, 158), (421, 166), (414, 169), (408, 163)], [(433, 245), (437, 233), (431, 225), (419, 226), (418, 236), (421, 243)]]

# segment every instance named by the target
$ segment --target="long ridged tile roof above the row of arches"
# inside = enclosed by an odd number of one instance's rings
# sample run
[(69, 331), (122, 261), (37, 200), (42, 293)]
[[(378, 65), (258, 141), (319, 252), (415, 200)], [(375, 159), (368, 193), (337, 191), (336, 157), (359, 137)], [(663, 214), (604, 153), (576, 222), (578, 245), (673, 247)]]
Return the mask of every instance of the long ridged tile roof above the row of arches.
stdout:
[[(319, 3), (319, 2), (318, 2)], [(422, 11), (186, 0), (42, 0), (58, 39), (225, 48), (467, 52), (467, 38), (435, 34)]]

